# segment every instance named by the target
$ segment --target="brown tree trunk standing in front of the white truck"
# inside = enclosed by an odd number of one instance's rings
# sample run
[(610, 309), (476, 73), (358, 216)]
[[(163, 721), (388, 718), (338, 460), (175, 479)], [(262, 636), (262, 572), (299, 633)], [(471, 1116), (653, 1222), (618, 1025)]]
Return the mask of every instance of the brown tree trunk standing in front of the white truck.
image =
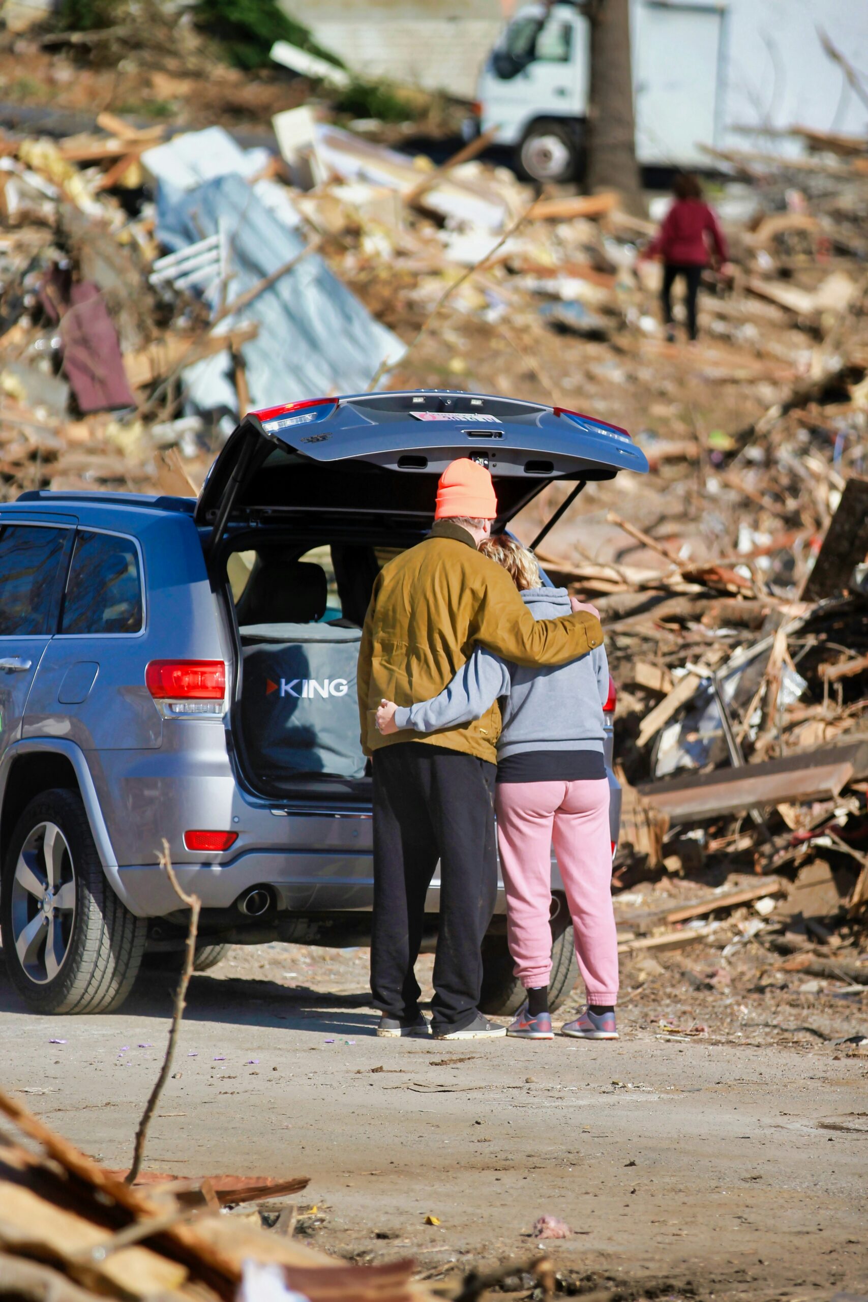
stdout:
[(588, 172), (591, 193), (618, 190), (627, 212), (645, 212), (636, 163), (630, 0), (592, 0)]

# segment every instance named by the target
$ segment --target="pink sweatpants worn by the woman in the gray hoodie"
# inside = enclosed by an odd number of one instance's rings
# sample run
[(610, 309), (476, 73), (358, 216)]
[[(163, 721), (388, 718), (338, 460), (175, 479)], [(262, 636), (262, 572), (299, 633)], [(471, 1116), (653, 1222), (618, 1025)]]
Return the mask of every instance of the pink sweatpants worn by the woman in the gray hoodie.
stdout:
[(614, 1004), (618, 941), (612, 907), (608, 781), (497, 783), (496, 799), (506, 935), (515, 975), (526, 990), (549, 980), (554, 846), (588, 1004)]

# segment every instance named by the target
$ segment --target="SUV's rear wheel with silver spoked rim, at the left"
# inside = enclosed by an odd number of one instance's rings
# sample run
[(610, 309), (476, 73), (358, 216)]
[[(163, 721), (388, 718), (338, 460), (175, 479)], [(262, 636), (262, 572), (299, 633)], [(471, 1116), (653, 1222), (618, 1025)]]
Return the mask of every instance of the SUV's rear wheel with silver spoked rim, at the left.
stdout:
[[(43, 827), (53, 827), (56, 832), (48, 833)], [(22, 927), (33, 928), (46, 909), (44, 900), (40, 902), (21, 885), (16, 870), (20, 859), (26, 858), (36, 876), (44, 876), (49, 885), (46, 838), (51, 835), (52, 844), (60, 845), (57, 832), (65, 842), (59, 852), (57, 876), (66, 891), (61, 896), (62, 887), (57, 889), (57, 914), (52, 913), (44, 923), (46, 936), (60, 937), (52, 958), (52, 967), (59, 966), (52, 973), (48, 944), (42, 944), (38, 931), (33, 932), (27, 965), (16, 949), (16, 935), (22, 941)], [(25, 855), (29, 841), (31, 848)], [(69, 906), (61, 906), (60, 898), (68, 900)], [(9, 976), (36, 1012), (111, 1013), (129, 995), (144, 953), (147, 922), (135, 918), (107, 881), (78, 792), (42, 792), (18, 819), (3, 863), (0, 928)], [(25, 948), (25, 960), (27, 953)]]

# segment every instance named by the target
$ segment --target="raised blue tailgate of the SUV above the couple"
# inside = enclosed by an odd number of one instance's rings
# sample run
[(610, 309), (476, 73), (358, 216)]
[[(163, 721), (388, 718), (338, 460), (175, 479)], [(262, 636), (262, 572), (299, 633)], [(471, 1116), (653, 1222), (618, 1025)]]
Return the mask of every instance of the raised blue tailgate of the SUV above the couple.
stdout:
[(491, 470), (497, 527), (553, 479), (578, 480), (578, 491), (619, 470), (648, 470), (625, 430), (563, 408), (440, 391), (362, 393), (250, 413), (211, 467), (195, 518), (212, 547), (230, 522), (284, 512), (427, 526), (437, 479), (455, 457)]

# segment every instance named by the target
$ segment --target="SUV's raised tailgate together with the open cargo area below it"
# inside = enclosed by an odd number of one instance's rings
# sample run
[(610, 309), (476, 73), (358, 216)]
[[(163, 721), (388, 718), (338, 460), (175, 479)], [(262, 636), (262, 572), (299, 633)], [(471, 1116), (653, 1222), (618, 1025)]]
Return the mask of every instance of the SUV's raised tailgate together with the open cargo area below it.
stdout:
[[(370, 801), (355, 704), (359, 625), (383, 555), (429, 529), (437, 479), (457, 457), (491, 470), (496, 527), (553, 479), (574, 488), (547, 529), (587, 480), (648, 469), (616, 426), (534, 402), (441, 392), (255, 411), (215, 461), (195, 518), (234, 602), (236, 742), (256, 792), (290, 805)], [(332, 613), (324, 544), (340, 599)], [(220, 574), (226, 548), (254, 556), (239, 596)]]

